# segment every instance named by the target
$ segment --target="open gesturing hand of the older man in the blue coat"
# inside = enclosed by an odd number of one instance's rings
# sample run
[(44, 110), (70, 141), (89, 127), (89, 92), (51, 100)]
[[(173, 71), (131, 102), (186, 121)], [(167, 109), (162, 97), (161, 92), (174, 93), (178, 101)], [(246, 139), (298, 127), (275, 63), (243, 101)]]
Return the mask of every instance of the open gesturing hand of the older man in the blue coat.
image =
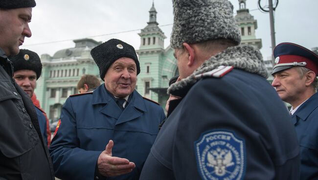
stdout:
[(118, 176), (130, 173), (136, 167), (134, 162), (129, 162), (126, 158), (112, 157), (113, 140), (110, 140), (97, 160), (98, 171), (106, 177)]

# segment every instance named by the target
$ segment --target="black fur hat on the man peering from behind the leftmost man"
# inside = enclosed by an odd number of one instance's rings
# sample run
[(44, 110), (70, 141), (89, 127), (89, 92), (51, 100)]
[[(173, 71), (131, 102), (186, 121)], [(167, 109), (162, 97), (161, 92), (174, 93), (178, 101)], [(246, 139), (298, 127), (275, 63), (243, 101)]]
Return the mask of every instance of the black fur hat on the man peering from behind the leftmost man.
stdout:
[(14, 72), (17, 70), (33, 70), (36, 73), (36, 79), (38, 80), (42, 72), (42, 63), (39, 55), (36, 52), (28, 49), (20, 49), (19, 54), (9, 56), (13, 65)]

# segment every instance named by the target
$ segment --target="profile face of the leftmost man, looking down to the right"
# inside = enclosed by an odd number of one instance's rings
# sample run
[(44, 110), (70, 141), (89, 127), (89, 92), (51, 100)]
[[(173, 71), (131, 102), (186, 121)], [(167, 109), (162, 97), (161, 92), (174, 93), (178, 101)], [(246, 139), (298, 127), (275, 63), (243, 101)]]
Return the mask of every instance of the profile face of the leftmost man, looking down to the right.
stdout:
[(0, 47), (7, 56), (19, 53), (24, 37), (31, 37), (32, 8), (0, 9)]

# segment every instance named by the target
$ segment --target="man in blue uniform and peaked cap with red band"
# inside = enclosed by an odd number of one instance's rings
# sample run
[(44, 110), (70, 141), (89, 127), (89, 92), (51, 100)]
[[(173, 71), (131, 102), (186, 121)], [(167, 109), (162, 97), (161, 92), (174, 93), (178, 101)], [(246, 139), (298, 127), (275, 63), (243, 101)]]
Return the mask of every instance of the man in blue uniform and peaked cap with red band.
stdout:
[(318, 55), (293, 43), (274, 48), (273, 87), (292, 105), (290, 114), (300, 145), (300, 179), (318, 179)]

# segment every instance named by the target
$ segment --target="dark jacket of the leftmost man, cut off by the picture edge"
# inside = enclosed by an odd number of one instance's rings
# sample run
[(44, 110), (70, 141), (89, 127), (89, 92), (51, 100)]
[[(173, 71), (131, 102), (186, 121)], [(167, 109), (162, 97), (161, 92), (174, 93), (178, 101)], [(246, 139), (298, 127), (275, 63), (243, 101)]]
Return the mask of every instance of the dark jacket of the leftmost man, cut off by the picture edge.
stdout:
[(54, 180), (34, 106), (12, 72), (0, 48), (0, 179)]

